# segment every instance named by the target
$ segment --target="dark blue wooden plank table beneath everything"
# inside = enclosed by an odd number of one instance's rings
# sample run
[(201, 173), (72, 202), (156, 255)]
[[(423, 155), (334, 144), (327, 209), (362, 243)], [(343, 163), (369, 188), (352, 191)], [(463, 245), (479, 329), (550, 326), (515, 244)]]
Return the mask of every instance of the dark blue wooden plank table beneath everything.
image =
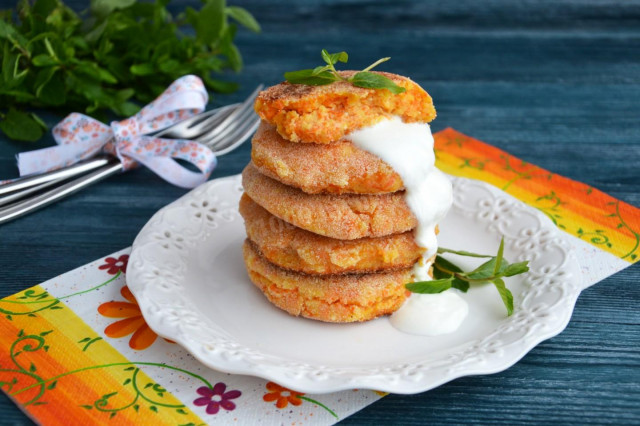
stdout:
[[(230, 78), (242, 89), (214, 105), (317, 65), (322, 48), (346, 50), (354, 68), (391, 56), (381, 69), (433, 96), (434, 130), (454, 127), (640, 206), (640, 1), (232, 3), (263, 33), (239, 34), (245, 69)], [(1, 139), (0, 177), (16, 175), (17, 152), (50, 144)], [(223, 157), (213, 177), (240, 172), (249, 154), (246, 145)], [(137, 170), (1, 226), (0, 296), (129, 246), (184, 193)], [(638, 283), (636, 264), (586, 290), (567, 329), (507, 371), (390, 395), (343, 424), (640, 424)], [(4, 395), (0, 413), (2, 424), (30, 423)]]

